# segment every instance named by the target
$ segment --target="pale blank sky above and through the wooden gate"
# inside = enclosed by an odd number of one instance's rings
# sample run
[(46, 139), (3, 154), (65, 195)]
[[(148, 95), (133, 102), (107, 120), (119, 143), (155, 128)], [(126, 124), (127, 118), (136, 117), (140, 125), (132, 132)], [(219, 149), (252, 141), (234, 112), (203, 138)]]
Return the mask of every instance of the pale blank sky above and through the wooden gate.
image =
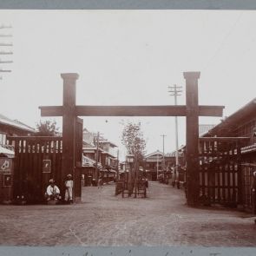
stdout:
[[(199, 103), (223, 105), (224, 116), (256, 95), (256, 15), (253, 10), (0, 10), (11, 25), (13, 63), (0, 80), (0, 113), (36, 127), (39, 106), (62, 105), (61, 73), (77, 73), (77, 105), (173, 105), (168, 86), (200, 71)], [(3, 47), (2, 47), (3, 49)], [(9, 48), (10, 49), (10, 48)], [(7, 66), (8, 65), (8, 66)], [(62, 127), (62, 118), (55, 119)], [(120, 149), (123, 123), (141, 121), (147, 153), (175, 150), (174, 117), (84, 117)], [(200, 117), (217, 124), (221, 117)], [(186, 144), (179, 117), (179, 145)]]

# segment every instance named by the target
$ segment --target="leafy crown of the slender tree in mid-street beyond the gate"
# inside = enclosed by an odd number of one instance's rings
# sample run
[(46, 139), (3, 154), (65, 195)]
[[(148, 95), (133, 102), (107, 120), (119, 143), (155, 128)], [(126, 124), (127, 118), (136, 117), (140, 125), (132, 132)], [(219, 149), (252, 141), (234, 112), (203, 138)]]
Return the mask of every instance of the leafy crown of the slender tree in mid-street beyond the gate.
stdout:
[(122, 130), (121, 143), (127, 149), (128, 154), (135, 155), (135, 162), (142, 162), (145, 154), (146, 141), (141, 131), (141, 122), (128, 122)]

